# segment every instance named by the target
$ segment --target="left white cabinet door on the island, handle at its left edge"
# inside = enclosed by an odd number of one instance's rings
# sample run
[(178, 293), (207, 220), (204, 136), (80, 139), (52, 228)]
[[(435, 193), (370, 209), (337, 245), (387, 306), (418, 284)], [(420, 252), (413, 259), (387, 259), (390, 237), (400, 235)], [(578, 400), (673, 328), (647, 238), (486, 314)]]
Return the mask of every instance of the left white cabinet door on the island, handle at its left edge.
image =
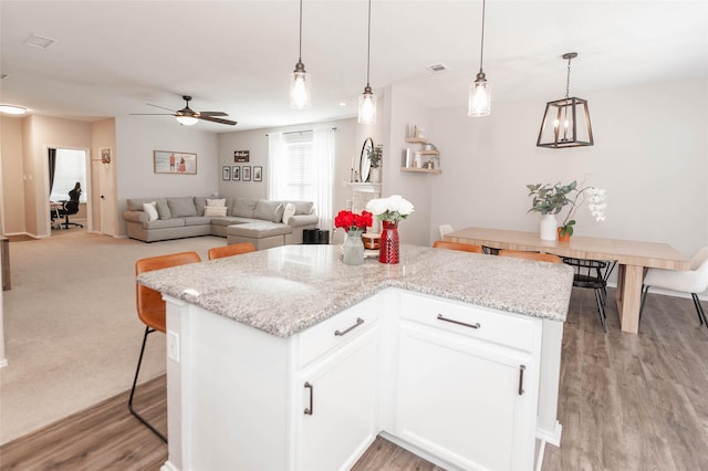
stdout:
[(377, 335), (369, 328), (300, 373), (296, 469), (348, 469), (376, 438)]

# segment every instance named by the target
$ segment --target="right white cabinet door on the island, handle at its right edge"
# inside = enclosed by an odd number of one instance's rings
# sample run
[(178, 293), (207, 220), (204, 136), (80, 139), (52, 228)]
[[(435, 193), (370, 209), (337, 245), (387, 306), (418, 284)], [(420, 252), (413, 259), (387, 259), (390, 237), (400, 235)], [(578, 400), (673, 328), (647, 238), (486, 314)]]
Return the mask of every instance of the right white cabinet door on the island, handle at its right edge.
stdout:
[(399, 332), (396, 435), (462, 469), (532, 469), (529, 355), (406, 321)]

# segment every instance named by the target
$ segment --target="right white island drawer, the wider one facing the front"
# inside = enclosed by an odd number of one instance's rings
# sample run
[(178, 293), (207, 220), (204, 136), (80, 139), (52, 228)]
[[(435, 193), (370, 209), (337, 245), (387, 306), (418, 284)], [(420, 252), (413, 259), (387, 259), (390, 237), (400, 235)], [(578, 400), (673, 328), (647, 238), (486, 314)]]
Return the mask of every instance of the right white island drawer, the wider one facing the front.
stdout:
[(512, 348), (533, 352), (541, 320), (421, 294), (402, 293), (400, 317)]

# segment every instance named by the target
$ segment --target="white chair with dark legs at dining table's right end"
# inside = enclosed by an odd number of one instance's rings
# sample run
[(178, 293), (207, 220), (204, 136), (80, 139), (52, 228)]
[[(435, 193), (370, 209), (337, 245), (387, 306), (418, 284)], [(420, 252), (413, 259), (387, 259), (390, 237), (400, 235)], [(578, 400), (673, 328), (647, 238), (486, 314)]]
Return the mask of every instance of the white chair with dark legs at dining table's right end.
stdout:
[(706, 324), (706, 327), (708, 327), (708, 318), (706, 318), (706, 313), (698, 299), (698, 293), (702, 293), (708, 289), (708, 247), (700, 249), (698, 253), (690, 259), (690, 271), (647, 270), (646, 276), (644, 276), (644, 283), (642, 284), (639, 321), (642, 320), (642, 312), (646, 303), (646, 295), (649, 294), (649, 287), (652, 286), (677, 291), (679, 293), (690, 293), (700, 325)]

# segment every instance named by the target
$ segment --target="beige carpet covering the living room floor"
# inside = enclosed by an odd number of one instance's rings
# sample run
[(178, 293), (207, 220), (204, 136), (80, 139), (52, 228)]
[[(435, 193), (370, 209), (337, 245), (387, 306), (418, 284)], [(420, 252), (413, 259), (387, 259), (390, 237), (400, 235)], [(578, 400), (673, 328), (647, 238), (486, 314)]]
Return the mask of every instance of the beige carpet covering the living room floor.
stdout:
[[(83, 229), (10, 242), (0, 443), (131, 388), (145, 329), (136, 260), (190, 250), (206, 260), (225, 244), (218, 237), (144, 243)], [(165, 373), (165, 336), (150, 335), (145, 355), (142, 383)]]

